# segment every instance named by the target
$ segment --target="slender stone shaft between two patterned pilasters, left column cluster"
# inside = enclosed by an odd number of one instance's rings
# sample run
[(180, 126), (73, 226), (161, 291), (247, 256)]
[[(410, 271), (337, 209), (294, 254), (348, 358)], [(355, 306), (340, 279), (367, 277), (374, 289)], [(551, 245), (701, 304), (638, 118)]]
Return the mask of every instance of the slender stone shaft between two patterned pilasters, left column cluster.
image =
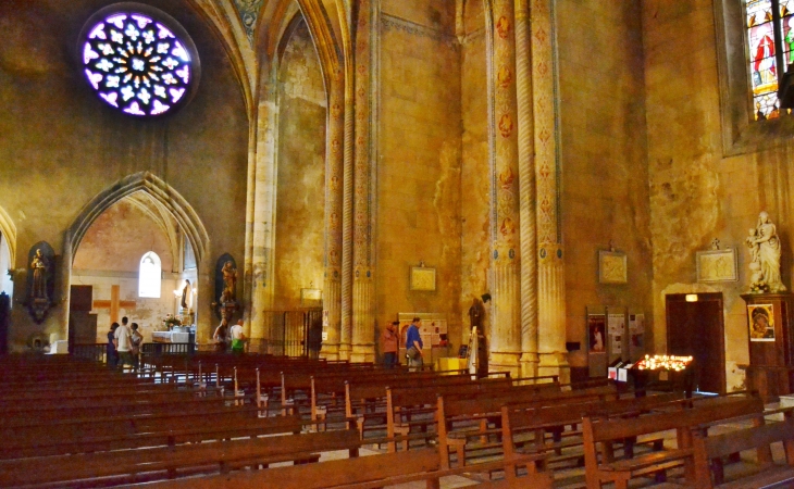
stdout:
[[(352, 63), (352, 60), (346, 60)], [(350, 360), (352, 339), (352, 174), (353, 174), (353, 86), (352, 68), (345, 74), (345, 136), (343, 139), (343, 201), (342, 201), (342, 325), (339, 330), (339, 360)]]

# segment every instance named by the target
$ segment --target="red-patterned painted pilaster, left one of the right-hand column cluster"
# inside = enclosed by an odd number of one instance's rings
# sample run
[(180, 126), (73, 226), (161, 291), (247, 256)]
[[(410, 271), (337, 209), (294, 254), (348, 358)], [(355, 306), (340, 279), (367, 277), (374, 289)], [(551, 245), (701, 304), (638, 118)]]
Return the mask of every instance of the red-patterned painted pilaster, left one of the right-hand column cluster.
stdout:
[(488, 40), (491, 86), (492, 260), (491, 360), (493, 369), (519, 372), (521, 302), (519, 280), (518, 113), (512, 0), (494, 0)]

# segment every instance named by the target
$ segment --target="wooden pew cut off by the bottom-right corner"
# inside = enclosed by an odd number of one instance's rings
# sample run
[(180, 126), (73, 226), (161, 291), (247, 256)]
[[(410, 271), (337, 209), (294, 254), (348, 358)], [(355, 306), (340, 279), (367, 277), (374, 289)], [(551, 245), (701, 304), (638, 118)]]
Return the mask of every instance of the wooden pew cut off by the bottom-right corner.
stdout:
[[(722, 457), (745, 450), (766, 452), (770, 446), (782, 442), (786, 465), (776, 465), (771, 460), (759, 456), (760, 471), (724, 482)], [(784, 422), (758, 424), (722, 435), (706, 436), (696, 432), (693, 439), (695, 453), (695, 487), (698, 489), (758, 488), (787, 482), (794, 485), (794, 421), (791, 416)], [(714, 472), (714, 474), (712, 474)], [(714, 475), (714, 477), (712, 477)]]

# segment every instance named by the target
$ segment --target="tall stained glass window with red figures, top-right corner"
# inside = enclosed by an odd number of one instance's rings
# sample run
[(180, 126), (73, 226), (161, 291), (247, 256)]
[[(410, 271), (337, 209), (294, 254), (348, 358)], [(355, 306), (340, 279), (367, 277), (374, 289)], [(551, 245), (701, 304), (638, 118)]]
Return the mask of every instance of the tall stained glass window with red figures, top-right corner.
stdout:
[(794, 62), (794, 0), (744, 0), (744, 3), (754, 118), (776, 118), (781, 114), (778, 100), (781, 71), (787, 72)]

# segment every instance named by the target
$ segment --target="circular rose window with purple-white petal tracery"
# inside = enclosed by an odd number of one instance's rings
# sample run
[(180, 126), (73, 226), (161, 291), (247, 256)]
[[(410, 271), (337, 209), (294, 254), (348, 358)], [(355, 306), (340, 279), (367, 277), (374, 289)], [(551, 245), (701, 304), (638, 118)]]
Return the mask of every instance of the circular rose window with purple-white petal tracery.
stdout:
[(196, 48), (179, 24), (147, 5), (97, 12), (80, 35), (88, 83), (108, 104), (139, 117), (174, 112), (198, 86)]

